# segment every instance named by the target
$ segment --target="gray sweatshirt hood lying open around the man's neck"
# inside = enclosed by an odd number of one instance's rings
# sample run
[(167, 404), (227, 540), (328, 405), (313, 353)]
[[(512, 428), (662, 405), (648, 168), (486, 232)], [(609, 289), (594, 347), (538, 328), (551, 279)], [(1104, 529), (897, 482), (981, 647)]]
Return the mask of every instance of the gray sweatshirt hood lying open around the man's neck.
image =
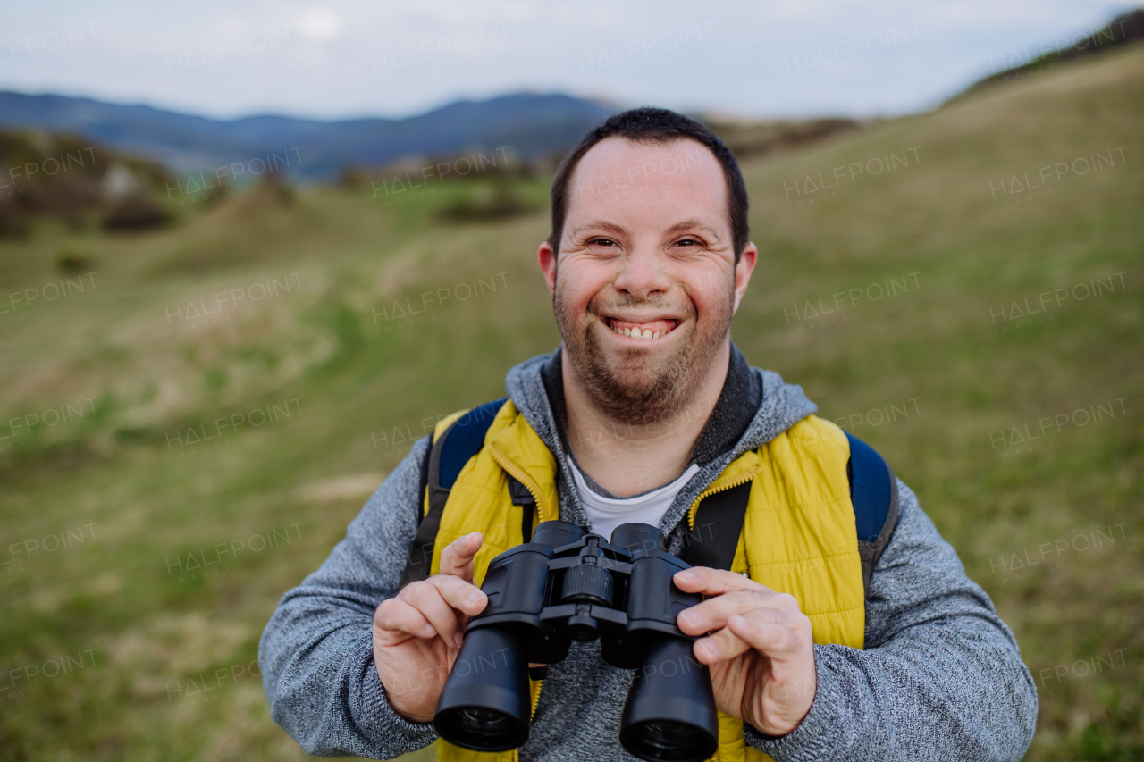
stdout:
[[(739, 351), (733, 344), (731, 350)], [(548, 394), (541, 379), (541, 368), (551, 362), (554, 355), (559, 351), (561, 348), (557, 348), (551, 354), (538, 355), (513, 367), (505, 379), (505, 389), (517, 410), (521, 411), (540, 439), (556, 457), (561, 494), (561, 518), (587, 526), (588, 518), (580, 503), (572, 475), (565, 466), (567, 462), (566, 453), (561, 443), (556, 420), (553, 414), (553, 405), (548, 399)], [(782, 376), (778, 373), (757, 367), (752, 367), (750, 372), (762, 382), (762, 402), (755, 411), (754, 418), (747, 426), (746, 431), (744, 431), (742, 436), (739, 437), (738, 442), (730, 450), (702, 465), (699, 471), (680, 490), (675, 501), (668, 508), (660, 523), (659, 529), (664, 532), (665, 537), (672, 534), (672, 531), (680, 523), (680, 519), (694, 499), (723, 473), (723, 469), (731, 461), (748, 450), (755, 450), (766, 444), (818, 410), (818, 406), (810, 402), (807, 395), (803, 394), (802, 387), (784, 382)], [(676, 532), (670, 542), (672, 551), (678, 551), (682, 542), (682, 532)]]

